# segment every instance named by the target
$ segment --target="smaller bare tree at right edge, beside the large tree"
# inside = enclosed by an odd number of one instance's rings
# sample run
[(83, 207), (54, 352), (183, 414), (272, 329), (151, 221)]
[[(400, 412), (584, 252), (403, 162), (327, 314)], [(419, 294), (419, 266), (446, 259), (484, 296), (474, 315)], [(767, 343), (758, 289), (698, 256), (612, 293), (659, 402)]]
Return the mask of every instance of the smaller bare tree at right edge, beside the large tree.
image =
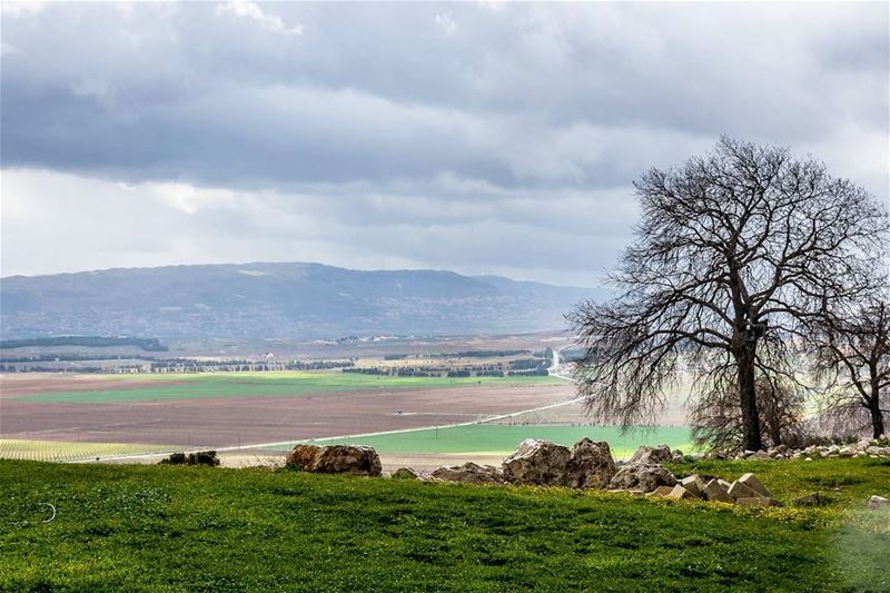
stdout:
[[(890, 408), (890, 302), (887, 291), (846, 314), (825, 308), (810, 324), (817, 376), (828, 379), (824, 413), (846, 423), (863, 415), (874, 438), (886, 434)], [(862, 428), (862, 426), (857, 426)]]

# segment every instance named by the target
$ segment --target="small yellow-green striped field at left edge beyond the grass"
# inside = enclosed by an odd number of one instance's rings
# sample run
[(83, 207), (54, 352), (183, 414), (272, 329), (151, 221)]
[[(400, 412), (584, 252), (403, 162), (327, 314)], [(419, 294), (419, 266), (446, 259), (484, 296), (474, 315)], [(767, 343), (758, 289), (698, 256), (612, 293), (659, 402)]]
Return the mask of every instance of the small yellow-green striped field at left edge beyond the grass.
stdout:
[(75, 462), (96, 457), (138, 455), (171, 451), (164, 445), (135, 445), (126, 443), (77, 443), (68, 441), (19, 441), (0, 438), (0, 459), (30, 459), (39, 462)]

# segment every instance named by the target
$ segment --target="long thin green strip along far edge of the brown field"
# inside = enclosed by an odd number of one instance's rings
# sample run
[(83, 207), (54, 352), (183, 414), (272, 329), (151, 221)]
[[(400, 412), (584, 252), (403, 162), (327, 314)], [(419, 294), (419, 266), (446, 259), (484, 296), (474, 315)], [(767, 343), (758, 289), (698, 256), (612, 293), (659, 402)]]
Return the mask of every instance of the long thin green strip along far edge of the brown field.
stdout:
[[(556, 385), (554, 377), (389, 377), (356, 373), (219, 373), (144, 375), (145, 386), (83, 392), (44, 393), (19, 396), (29, 402), (109, 404), (210, 397), (268, 395), (300, 396), (314, 393), (363, 389), (423, 389), (469, 385)], [(134, 376), (126, 378), (132, 379)]]

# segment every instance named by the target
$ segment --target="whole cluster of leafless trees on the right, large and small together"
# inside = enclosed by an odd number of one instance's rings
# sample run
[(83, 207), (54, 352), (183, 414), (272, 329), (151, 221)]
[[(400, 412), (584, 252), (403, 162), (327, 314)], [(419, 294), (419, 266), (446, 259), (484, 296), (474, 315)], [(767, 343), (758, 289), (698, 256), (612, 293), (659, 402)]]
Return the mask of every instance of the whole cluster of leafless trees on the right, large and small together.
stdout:
[(888, 213), (873, 196), (729, 138), (634, 186), (642, 218), (611, 276), (619, 296), (568, 315), (590, 412), (649, 424), (689, 369), (700, 436), (756, 451), (793, 424), (811, 370), (837, 419), (884, 432)]

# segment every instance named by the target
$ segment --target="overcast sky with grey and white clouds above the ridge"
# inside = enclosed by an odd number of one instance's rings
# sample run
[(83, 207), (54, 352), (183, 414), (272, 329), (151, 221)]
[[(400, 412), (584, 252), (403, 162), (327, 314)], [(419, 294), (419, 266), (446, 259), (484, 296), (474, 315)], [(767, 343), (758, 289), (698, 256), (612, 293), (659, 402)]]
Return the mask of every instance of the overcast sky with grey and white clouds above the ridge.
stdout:
[(595, 285), (721, 134), (888, 199), (888, 3), (2, 3), (2, 276)]

